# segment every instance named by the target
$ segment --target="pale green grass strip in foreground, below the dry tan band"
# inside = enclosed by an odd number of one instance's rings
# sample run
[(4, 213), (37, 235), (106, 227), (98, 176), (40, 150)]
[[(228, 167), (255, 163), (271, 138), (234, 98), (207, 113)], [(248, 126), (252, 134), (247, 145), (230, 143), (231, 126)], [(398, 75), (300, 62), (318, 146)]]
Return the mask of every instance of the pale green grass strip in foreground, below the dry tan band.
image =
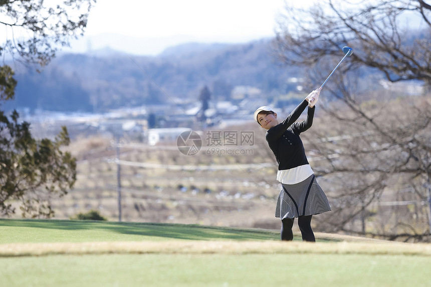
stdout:
[(429, 257), (103, 254), (0, 257), (2, 286), (430, 286)]

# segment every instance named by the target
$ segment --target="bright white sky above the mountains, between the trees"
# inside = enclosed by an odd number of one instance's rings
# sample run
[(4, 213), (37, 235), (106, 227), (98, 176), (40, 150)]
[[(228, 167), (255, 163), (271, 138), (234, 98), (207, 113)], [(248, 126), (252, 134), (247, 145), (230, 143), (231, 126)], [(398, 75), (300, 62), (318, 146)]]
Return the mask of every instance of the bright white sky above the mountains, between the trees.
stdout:
[(90, 12), (86, 37), (73, 48), (157, 55), (187, 42), (244, 43), (274, 36), (284, 6), (284, 0), (99, 0)]

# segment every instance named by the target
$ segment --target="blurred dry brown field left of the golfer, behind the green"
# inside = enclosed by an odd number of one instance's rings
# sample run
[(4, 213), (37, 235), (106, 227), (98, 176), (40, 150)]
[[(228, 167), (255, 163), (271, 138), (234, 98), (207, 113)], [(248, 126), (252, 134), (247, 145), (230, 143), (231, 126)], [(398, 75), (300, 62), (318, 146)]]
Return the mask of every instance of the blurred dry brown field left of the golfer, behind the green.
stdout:
[[(255, 134), (252, 156), (208, 155), (204, 147), (198, 155), (186, 156), (175, 143), (149, 146), (121, 139), (125, 147), (120, 149), (120, 159), (193, 168), (272, 161), (272, 157), (256, 148), (258, 138), (264, 141), (259, 132)], [(117, 165), (113, 161), (116, 150), (112, 138), (77, 138), (67, 149), (77, 158), (77, 181), (67, 195), (48, 199), (55, 211), (54, 218), (69, 219), (93, 209), (110, 221), (118, 220)], [(122, 221), (279, 228), (280, 220), (274, 217), (280, 190), (275, 181), (276, 169), (276, 165), (247, 170), (169, 170), (122, 165)], [(13, 218), (21, 218), (20, 202), (13, 204), (17, 210)]]

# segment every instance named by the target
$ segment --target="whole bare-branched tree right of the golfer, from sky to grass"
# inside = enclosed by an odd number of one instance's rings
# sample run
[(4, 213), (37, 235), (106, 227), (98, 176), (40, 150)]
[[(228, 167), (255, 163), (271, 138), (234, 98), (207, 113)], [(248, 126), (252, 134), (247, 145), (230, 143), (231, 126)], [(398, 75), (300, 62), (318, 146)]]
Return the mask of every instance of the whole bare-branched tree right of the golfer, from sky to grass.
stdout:
[[(431, 7), (408, 0), (355, 5), (329, 0), (309, 9), (286, 7), (275, 41), (284, 64), (310, 72), (308, 88), (325, 79), (341, 59), (341, 47), (354, 50), (337, 70), (340, 77), (322, 91), (324, 112), (314, 133), (304, 135), (333, 203), (319, 228), (429, 241), (429, 95), (426, 89), (423, 97), (391, 94), (370, 80), (383, 75), (392, 83), (419, 80), (430, 86)], [(380, 73), (365, 77), (364, 71)], [(325, 101), (329, 95), (331, 103)]]

